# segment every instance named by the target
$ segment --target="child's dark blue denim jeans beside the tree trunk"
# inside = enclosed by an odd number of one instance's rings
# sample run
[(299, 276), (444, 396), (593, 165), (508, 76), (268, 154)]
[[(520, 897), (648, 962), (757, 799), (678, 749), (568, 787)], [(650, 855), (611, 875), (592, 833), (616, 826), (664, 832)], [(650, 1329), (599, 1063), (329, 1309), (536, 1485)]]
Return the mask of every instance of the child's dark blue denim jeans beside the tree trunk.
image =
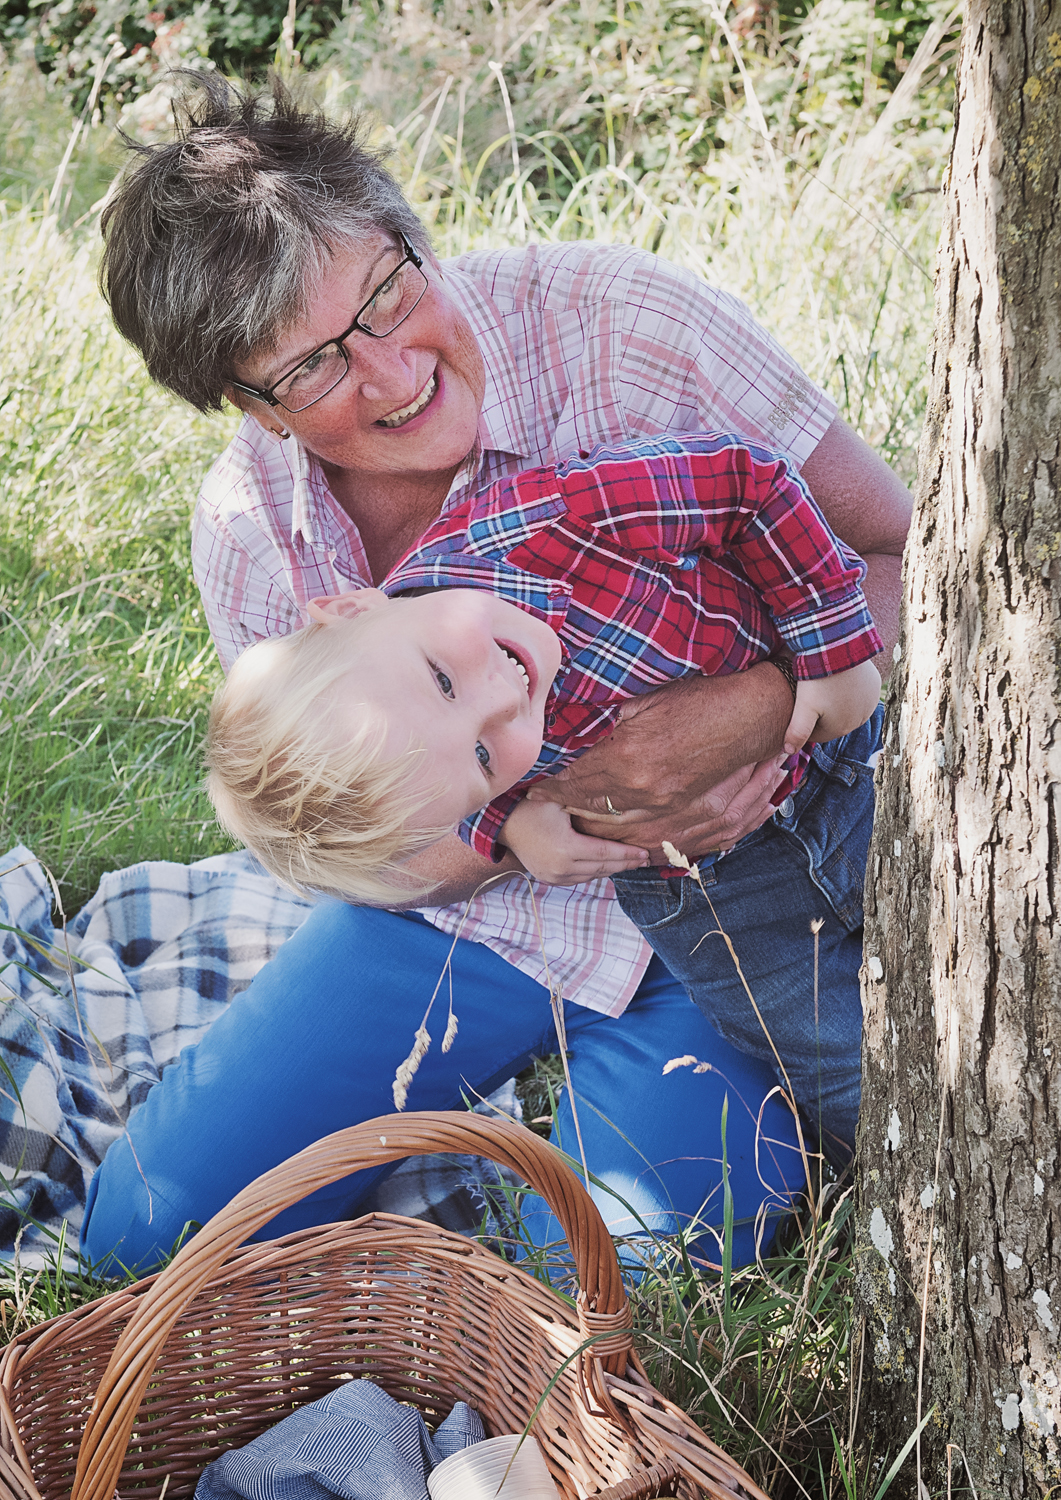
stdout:
[(858, 1120), (861, 898), (873, 824), (870, 758), (882, 720), (878, 708), (861, 729), (816, 746), (800, 788), (768, 824), (729, 854), (699, 861), (710, 908), (687, 876), (615, 876), (623, 910), (719, 1036), (791, 1088), (810, 1138), (837, 1166), (854, 1150)]

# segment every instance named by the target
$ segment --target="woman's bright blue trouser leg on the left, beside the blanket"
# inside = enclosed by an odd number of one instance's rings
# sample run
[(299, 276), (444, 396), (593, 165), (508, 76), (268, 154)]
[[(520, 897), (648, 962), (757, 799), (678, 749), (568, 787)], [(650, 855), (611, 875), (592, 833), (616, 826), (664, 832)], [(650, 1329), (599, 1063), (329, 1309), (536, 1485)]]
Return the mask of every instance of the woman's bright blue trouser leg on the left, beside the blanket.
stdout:
[[(428, 922), (321, 903), (131, 1118), (93, 1179), (87, 1254), (143, 1269), (260, 1173), (393, 1113), (395, 1074), (447, 962), (464, 1024), (443, 1054), (440, 1014), (408, 1107), (459, 1108), (462, 1090), (509, 1077), (549, 1024), (548, 993), (480, 945), (450, 948)], [(447, 1005), (443, 986), (440, 1012)], [(336, 1184), (269, 1233), (342, 1218), (369, 1186)]]

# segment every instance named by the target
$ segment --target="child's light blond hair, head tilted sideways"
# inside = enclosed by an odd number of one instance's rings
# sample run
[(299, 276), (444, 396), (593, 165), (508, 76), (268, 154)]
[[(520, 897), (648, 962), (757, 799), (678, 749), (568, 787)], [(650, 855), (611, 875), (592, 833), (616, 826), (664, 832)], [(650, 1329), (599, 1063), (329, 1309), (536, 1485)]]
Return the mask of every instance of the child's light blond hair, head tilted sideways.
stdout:
[(210, 710), (207, 792), (222, 826), (285, 885), (387, 906), (431, 891), (404, 861), (449, 828), (423, 825), (423, 747), (387, 754), (380, 708), (359, 705), (345, 736), (330, 724), (363, 622), (306, 626), (240, 656)]

